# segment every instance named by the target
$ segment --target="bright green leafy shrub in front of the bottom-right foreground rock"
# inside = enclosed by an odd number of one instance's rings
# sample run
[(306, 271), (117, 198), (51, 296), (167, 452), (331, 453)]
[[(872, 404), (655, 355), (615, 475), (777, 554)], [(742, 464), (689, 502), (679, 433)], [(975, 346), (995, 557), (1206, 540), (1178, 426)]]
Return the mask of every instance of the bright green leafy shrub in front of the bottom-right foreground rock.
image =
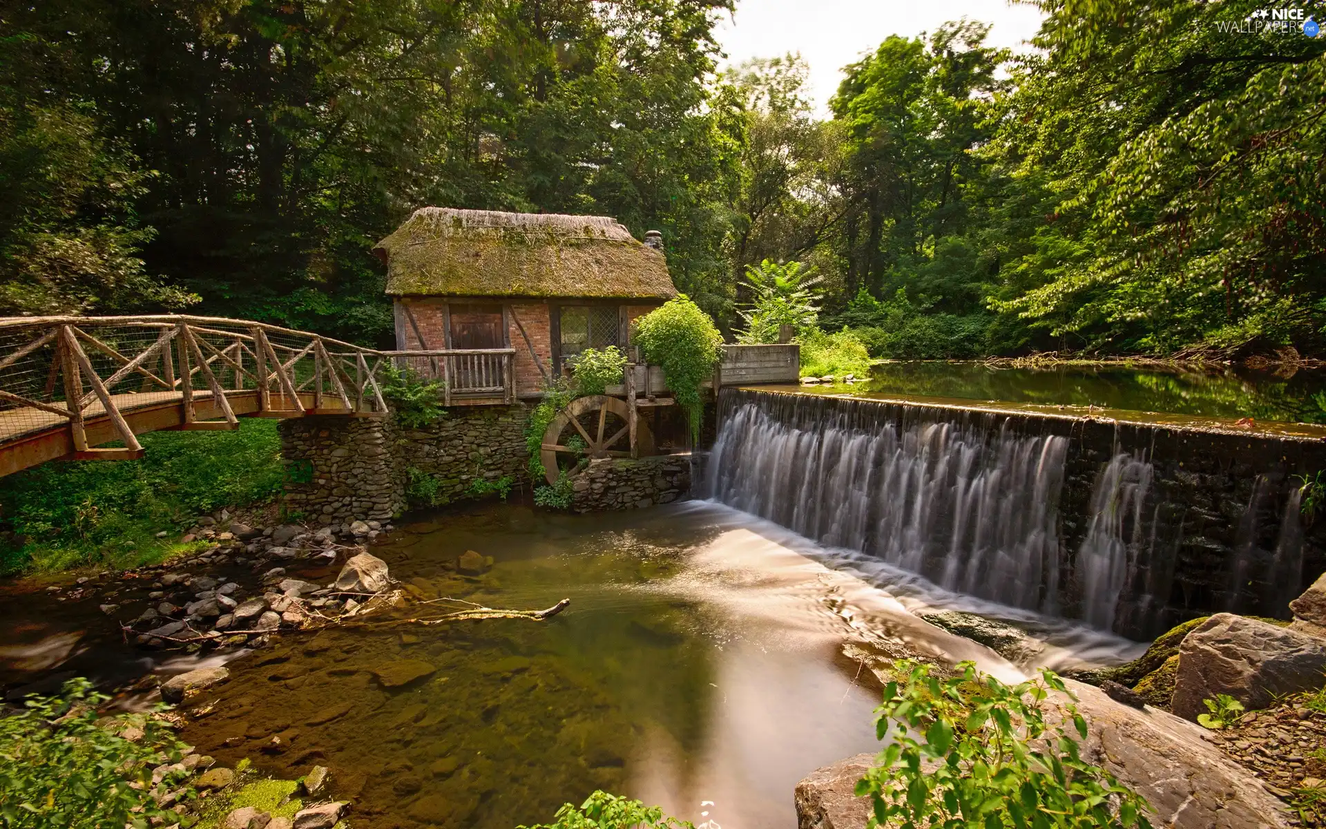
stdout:
[(1006, 686), (964, 662), (948, 679), (895, 663), (875, 726), (888, 747), (857, 783), (874, 806), (870, 826), (1148, 828), (1146, 801), (1086, 763), (1086, 720), (1052, 671)]

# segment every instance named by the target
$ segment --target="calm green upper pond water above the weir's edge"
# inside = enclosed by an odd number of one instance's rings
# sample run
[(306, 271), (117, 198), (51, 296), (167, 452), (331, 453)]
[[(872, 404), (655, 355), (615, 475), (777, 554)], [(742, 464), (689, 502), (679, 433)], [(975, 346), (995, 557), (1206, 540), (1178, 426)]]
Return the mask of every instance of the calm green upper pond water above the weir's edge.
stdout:
[(1326, 423), (1326, 369), (1052, 366), (888, 362), (862, 389), (985, 402), (1095, 406), (1203, 418)]

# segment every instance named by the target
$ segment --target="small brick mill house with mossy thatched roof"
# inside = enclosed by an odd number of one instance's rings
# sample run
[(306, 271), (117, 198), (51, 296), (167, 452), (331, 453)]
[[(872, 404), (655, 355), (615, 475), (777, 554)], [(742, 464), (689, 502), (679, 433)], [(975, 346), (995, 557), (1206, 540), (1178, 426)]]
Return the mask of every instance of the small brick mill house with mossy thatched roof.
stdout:
[(629, 348), (631, 321), (676, 296), (662, 236), (607, 216), (424, 207), (373, 252), (396, 350), (444, 381), (448, 406), (538, 397), (582, 350)]

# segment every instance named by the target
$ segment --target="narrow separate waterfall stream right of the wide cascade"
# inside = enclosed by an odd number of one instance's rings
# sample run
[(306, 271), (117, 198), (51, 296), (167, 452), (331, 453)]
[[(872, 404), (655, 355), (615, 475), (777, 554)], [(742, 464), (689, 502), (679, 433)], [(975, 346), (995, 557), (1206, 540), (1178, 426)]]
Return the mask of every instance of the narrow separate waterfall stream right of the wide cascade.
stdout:
[(1143, 542), (1142, 511), (1154, 474), (1143, 456), (1118, 452), (1095, 479), (1091, 524), (1077, 557), (1082, 619), (1094, 627), (1114, 627), (1119, 594)]

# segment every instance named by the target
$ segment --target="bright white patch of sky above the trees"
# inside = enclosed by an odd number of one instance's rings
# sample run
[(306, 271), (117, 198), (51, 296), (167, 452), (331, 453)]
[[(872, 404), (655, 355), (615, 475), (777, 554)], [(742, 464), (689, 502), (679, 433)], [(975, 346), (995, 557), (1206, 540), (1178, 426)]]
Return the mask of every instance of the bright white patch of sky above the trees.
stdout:
[(1017, 48), (1041, 25), (1041, 12), (1006, 0), (737, 0), (719, 25), (728, 62), (800, 52), (810, 64), (810, 93), (821, 114), (842, 80), (839, 72), (890, 34), (914, 37), (947, 20), (993, 24), (992, 46)]

